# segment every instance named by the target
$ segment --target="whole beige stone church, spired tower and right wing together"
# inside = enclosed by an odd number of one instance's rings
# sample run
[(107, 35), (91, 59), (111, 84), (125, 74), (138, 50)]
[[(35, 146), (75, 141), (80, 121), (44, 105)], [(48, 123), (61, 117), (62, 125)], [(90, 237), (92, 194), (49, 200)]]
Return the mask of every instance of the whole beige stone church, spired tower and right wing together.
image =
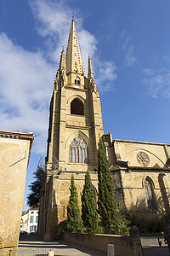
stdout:
[(74, 18), (68, 45), (62, 49), (50, 102), (46, 179), (41, 193), (39, 236), (56, 238), (57, 226), (67, 217), (71, 175), (78, 200), (87, 170), (98, 197), (98, 144), (102, 137), (110, 162), (120, 211), (156, 218), (169, 213), (170, 145), (113, 139), (104, 134), (99, 90), (88, 57), (88, 77)]

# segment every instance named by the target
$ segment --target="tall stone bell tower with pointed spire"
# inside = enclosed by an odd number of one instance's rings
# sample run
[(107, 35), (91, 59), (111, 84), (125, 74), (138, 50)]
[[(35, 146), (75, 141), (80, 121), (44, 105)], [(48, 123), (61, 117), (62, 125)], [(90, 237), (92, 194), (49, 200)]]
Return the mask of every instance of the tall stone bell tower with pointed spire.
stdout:
[(40, 200), (38, 231), (45, 240), (57, 236), (57, 225), (67, 217), (71, 174), (79, 195), (87, 170), (94, 192), (97, 189), (97, 150), (103, 132), (99, 90), (94, 82), (91, 59), (88, 57), (86, 78), (73, 18), (66, 56), (62, 49), (50, 102), (46, 181)]

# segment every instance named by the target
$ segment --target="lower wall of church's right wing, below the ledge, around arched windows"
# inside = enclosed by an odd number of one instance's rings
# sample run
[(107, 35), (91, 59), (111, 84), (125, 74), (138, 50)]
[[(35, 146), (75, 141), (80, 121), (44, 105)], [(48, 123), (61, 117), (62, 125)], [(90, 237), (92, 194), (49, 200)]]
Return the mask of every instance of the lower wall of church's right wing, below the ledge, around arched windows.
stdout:
[[(170, 171), (162, 172), (161, 170), (150, 170), (150, 171), (131, 171), (130, 173), (122, 171), (122, 186), (125, 197), (125, 205), (128, 212), (134, 213), (156, 213), (164, 214), (168, 213), (169, 206), (166, 209), (166, 201), (163, 201), (162, 187), (159, 183), (159, 177), (163, 174), (164, 183), (166, 183), (165, 192), (169, 203), (170, 199)], [(156, 210), (150, 211), (144, 191), (144, 179), (150, 177), (153, 181), (153, 193), (156, 197)], [(149, 213), (150, 215), (150, 213)]]

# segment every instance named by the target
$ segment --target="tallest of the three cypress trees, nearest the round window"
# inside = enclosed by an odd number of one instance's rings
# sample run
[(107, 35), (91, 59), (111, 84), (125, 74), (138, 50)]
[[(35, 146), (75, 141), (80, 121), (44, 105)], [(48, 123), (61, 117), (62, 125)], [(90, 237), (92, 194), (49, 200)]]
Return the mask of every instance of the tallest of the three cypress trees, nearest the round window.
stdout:
[(99, 215), (101, 225), (106, 234), (127, 234), (127, 224), (117, 211), (115, 190), (113, 188), (109, 161), (105, 154), (105, 146), (100, 138), (98, 154), (98, 178), (99, 178)]

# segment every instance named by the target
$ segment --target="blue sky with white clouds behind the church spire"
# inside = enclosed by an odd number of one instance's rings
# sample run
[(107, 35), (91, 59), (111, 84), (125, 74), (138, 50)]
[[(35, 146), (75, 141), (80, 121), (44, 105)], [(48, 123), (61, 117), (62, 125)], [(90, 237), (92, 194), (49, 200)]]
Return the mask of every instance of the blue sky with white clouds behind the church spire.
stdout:
[(170, 143), (169, 0), (0, 2), (0, 127), (34, 131), (26, 194), (44, 159), (48, 107), (74, 11), (84, 66), (92, 57), (105, 132)]

